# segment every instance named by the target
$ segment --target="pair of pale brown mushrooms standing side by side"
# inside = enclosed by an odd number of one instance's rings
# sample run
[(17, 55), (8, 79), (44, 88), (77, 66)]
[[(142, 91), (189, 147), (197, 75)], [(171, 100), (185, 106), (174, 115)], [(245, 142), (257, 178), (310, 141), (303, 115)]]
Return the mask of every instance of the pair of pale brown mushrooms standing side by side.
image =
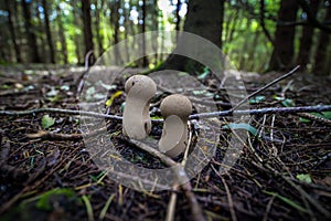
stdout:
[[(149, 116), (150, 99), (157, 93), (156, 83), (148, 76), (131, 76), (125, 85), (127, 93), (122, 118), (122, 133), (132, 139), (143, 139), (151, 131)], [(188, 145), (188, 119), (192, 104), (188, 97), (173, 94), (160, 105), (164, 118), (159, 150), (170, 157), (177, 157)]]

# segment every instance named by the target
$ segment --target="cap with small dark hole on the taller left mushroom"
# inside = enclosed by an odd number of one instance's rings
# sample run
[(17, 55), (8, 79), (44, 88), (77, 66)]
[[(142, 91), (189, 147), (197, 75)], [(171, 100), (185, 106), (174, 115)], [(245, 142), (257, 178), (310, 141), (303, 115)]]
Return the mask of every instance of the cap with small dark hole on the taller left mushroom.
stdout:
[[(146, 75), (134, 75), (126, 81), (125, 91), (128, 94), (132, 86), (139, 88), (139, 96), (143, 96), (143, 94), (154, 94), (157, 93), (156, 83)], [(142, 93), (142, 94), (141, 94)]]

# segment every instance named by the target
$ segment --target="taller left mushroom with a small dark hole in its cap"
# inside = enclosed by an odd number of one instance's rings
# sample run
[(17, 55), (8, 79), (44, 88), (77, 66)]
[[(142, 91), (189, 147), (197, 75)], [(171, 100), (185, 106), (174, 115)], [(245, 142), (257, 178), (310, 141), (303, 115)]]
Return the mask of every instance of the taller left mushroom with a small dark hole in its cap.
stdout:
[(151, 130), (150, 99), (157, 93), (156, 83), (148, 76), (135, 75), (125, 84), (127, 93), (122, 115), (122, 133), (132, 139), (143, 139)]

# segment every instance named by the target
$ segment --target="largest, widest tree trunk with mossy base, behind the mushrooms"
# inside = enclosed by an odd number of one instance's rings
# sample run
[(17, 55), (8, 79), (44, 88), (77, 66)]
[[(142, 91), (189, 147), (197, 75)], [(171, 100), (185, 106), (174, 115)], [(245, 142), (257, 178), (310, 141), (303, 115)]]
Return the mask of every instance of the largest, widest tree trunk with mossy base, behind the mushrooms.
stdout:
[[(200, 35), (221, 48), (224, 2), (224, 0), (190, 0), (183, 30)], [(171, 54), (160, 69), (184, 71), (190, 74), (197, 74), (202, 71), (197, 62), (177, 54)]]

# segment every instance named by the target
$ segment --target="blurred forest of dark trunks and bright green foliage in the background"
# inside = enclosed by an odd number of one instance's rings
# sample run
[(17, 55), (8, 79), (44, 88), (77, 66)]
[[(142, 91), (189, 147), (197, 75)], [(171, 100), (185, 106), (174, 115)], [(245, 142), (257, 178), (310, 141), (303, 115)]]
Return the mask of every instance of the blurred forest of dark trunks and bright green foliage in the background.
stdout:
[[(81, 65), (90, 50), (97, 59), (128, 36), (177, 30), (206, 39), (205, 33), (212, 33), (217, 41), (209, 40), (238, 70), (263, 73), (300, 65), (301, 71), (327, 76), (330, 4), (328, 0), (1, 0), (0, 63)], [(189, 13), (194, 19), (188, 19)], [(220, 25), (196, 30), (199, 23), (213, 22)], [(127, 44), (128, 52), (146, 46)], [(131, 65), (154, 67), (164, 59)]]

